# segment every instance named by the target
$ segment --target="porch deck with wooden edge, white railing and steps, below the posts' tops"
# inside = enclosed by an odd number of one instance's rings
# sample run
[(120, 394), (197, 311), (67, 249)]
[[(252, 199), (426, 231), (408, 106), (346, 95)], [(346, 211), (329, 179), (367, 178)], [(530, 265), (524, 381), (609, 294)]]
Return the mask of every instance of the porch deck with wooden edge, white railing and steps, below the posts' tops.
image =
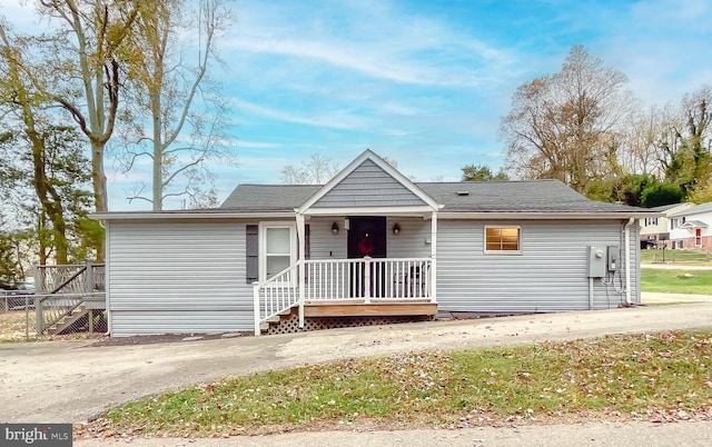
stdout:
[(255, 335), (293, 309), (299, 328), (305, 318), (435, 316), (432, 267), (429, 258), (297, 261), (254, 285)]

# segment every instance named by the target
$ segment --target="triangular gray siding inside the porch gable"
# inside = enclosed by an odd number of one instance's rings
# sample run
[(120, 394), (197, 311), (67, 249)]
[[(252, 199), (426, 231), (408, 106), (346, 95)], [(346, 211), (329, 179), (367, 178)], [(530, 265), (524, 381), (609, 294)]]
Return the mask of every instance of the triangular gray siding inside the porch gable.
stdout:
[(372, 160), (365, 160), (313, 208), (418, 205), (425, 202)]

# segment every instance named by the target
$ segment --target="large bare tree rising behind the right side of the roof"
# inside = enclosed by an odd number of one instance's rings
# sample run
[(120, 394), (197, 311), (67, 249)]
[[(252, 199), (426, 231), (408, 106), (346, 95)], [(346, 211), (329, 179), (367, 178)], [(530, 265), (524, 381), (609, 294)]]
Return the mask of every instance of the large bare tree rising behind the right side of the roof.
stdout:
[(630, 110), (627, 81), (575, 46), (562, 70), (522, 85), (501, 133), (507, 169), (522, 178), (555, 178), (584, 192), (592, 179), (620, 170), (620, 125)]

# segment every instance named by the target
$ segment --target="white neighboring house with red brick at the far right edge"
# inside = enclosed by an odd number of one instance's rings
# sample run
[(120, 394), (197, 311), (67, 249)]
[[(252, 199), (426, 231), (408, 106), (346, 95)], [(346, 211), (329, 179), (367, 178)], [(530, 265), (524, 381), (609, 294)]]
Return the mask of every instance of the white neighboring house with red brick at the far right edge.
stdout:
[(703, 249), (712, 252), (712, 202), (701, 203), (672, 213), (672, 248)]

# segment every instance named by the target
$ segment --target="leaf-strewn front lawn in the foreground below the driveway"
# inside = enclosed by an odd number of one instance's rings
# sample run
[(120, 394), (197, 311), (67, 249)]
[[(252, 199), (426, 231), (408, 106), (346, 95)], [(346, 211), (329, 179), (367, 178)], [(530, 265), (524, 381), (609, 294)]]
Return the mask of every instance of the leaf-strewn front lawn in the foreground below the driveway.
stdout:
[(234, 377), (106, 411), (77, 436), (226, 436), (712, 418), (712, 330), (411, 352)]

